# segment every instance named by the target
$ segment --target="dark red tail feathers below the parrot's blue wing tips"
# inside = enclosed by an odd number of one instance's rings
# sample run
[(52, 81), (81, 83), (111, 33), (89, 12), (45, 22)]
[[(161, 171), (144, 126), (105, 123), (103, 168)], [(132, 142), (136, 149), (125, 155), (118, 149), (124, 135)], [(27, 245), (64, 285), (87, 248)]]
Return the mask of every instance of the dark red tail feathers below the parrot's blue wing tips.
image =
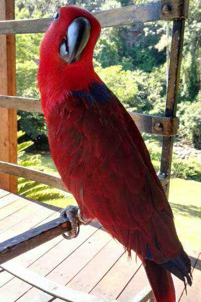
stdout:
[(175, 290), (171, 274), (152, 260), (144, 265), (156, 302), (175, 302)]

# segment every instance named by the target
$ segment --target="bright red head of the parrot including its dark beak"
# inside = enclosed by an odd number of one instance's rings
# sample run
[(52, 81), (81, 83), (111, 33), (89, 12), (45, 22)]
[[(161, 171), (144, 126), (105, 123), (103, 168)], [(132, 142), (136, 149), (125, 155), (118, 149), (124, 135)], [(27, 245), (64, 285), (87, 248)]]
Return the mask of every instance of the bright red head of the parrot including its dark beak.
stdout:
[(46, 31), (40, 48), (38, 86), (84, 88), (94, 75), (92, 56), (100, 24), (90, 13), (62, 7)]

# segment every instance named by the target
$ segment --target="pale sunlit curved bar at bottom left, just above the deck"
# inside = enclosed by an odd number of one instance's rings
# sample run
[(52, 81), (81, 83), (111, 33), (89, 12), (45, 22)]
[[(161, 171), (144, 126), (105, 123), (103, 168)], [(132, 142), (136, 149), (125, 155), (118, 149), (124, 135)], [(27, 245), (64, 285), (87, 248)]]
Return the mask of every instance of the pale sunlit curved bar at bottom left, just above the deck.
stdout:
[[(2, 268), (17, 278), (33, 285), (34, 287), (67, 302), (109, 302), (109, 300), (97, 297), (73, 288), (63, 286), (47, 277), (43, 277), (28, 268), (24, 268), (17, 263), (5, 263)], [(112, 301), (111, 301), (112, 302)], [(115, 300), (114, 302), (117, 302)]]

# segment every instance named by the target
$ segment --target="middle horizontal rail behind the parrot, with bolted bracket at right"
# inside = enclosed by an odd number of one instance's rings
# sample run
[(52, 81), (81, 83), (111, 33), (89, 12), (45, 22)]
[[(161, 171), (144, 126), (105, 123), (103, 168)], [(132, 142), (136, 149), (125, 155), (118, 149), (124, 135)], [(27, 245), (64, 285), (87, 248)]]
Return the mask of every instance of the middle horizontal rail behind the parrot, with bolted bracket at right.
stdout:
[[(38, 99), (28, 99), (20, 97), (10, 97), (0, 95), (0, 106), (5, 108), (15, 108), (18, 110), (33, 111), (43, 113), (41, 102)], [(147, 132), (163, 136), (171, 136), (177, 133), (177, 118), (165, 116), (155, 116), (129, 112), (138, 129), (141, 132)]]

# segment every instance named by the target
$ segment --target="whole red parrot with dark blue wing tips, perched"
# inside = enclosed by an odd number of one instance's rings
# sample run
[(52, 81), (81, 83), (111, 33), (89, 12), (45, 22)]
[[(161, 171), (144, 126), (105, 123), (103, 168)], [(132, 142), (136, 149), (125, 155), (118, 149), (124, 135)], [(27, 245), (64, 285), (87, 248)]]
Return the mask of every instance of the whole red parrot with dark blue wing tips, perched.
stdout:
[(93, 69), (99, 22), (62, 7), (40, 48), (38, 87), (52, 158), (84, 219), (143, 262), (156, 301), (175, 301), (170, 273), (191, 285), (190, 260), (143, 138)]

